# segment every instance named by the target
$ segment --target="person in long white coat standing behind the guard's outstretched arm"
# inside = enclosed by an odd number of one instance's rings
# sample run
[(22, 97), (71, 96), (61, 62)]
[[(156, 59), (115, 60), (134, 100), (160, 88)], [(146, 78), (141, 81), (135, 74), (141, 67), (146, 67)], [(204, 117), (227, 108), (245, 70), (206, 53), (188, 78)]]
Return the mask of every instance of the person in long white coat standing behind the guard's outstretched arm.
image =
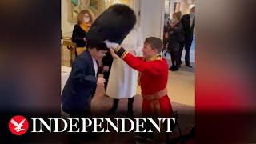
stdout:
[[(143, 40), (140, 29), (134, 27), (126, 36), (121, 46), (128, 50), (130, 54), (142, 56)], [(128, 66), (126, 62), (118, 58), (118, 55), (115, 53), (111, 54), (114, 57), (114, 61), (110, 70), (110, 80), (106, 89), (106, 95), (110, 96), (110, 98), (114, 98), (114, 104), (107, 115), (115, 113), (118, 109), (119, 99), (128, 98), (126, 117), (132, 118), (134, 116), (134, 96), (136, 95), (138, 86), (138, 71)], [(129, 87), (129, 89), (127, 87)]]

